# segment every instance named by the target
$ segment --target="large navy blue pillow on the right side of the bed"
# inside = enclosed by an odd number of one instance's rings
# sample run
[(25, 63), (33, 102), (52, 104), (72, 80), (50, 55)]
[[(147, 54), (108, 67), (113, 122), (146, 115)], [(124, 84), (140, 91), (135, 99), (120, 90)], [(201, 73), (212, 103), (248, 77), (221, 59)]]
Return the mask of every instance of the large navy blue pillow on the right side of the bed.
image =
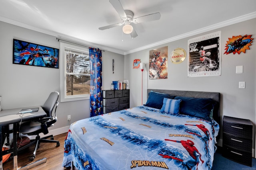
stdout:
[(210, 119), (210, 114), (216, 102), (210, 98), (188, 98), (176, 96), (174, 99), (182, 100), (180, 103), (180, 114), (190, 115), (203, 119)]

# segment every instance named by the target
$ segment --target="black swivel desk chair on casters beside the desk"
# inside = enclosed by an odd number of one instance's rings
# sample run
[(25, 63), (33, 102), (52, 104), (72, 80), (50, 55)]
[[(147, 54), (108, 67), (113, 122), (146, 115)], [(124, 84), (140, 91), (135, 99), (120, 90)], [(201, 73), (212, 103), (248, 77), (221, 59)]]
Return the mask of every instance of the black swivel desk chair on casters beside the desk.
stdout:
[[(44, 133), (44, 135), (48, 134), (48, 127), (52, 126), (56, 121), (57, 121), (57, 115), (56, 115), (56, 109), (58, 106), (58, 97), (59, 93), (58, 92), (51, 92), (50, 96), (42, 106), (42, 109), (46, 112), (47, 116), (36, 120), (36, 121), (28, 121), (20, 124), (19, 131), (20, 133), (24, 135), (36, 135), (36, 139), (30, 140), (31, 142), (18, 149), (18, 152), (30, 147), (31, 145), (36, 144), (34, 152), (32, 156), (30, 156), (29, 160), (32, 161), (36, 157), (36, 150), (39, 148), (40, 143), (57, 143), (56, 146), (60, 146), (59, 141), (54, 141), (53, 135), (47, 136), (47, 137), (42, 137), (40, 138), (39, 134)], [(55, 107), (54, 111), (54, 117), (52, 116), (52, 111)], [(51, 138), (51, 140), (47, 139)]]

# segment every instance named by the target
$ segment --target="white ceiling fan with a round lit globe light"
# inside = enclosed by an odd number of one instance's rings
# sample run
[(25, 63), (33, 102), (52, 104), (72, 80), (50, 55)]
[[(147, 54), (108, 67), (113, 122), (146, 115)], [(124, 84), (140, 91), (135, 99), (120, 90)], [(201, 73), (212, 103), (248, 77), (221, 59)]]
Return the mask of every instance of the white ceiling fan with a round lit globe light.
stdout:
[(146, 22), (146, 21), (154, 21), (159, 20), (161, 17), (161, 14), (159, 12), (154, 14), (148, 14), (146, 16), (140, 16), (138, 18), (133, 18), (133, 12), (130, 10), (124, 10), (122, 7), (122, 4), (119, 0), (109, 0), (109, 2), (112, 4), (112, 6), (115, 8), (116, 12), (121, 17), (122, 23), (115, 23), (112, 25), (107, 25), (104, 27), (99, 27), (100, 30), (109, 29), (113, 27), (118, 27), (121, 25), (123, 26), (123, 32), (126, 34), (130, 34), (132, 38), (137, 37), (138, 34), (136, 33), (135, 29), (130, 25), (131, 23), (140, 23), (140, 22)]

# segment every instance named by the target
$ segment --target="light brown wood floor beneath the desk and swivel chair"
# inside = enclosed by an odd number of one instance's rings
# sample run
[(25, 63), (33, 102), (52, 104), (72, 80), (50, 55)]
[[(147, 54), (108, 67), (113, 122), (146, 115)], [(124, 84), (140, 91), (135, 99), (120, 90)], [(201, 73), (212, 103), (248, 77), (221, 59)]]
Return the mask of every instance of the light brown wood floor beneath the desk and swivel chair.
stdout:
[[(34, 161), (42, 158), (47, 158), (47, 161), (34, 168), (31, 168), (30, 170), (78, 170), (75, 167), (71, 167), (69, 169), (62, 167), (65, 138), (66, 133), (54, 136), (54, 140), (60, 141), (59, 147), (56, 147), (56, 143), (41, 143), (40, 148), (38, 148), (36, 152), (36, 158)], [(31, 146), (28, 150), (18, 154), (18, 168), (31, 163), (28, 158), (32, 155), (33, 149), (34, 146)], [(7, 162), (4, 162), (3, 168), (4, 170), (13, 170), (13, 160), (9, 159)]]

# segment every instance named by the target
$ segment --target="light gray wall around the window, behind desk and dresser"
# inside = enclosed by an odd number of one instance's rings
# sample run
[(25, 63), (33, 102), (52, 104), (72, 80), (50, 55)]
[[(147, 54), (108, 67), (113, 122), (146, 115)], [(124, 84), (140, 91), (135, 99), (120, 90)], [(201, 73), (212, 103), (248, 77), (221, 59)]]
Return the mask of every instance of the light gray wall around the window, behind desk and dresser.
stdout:
[[(60, 68), (44, 68), (12, 64), (13, 39), (60, 49), (56, 37), (0, 21), (0, 96), (2, 109), (42, 106), (52, 91), (60, 92)], [(64, 56), (60, 56), (60, 60)], [(115, 72), (112, 73), (112, 59)], [(123, 80), (124, 56), (102, 52), (103, 89), (110, 89), (112, 80)], [(61, 94), (60, 94), (61, 95)], [(1, 112), (0, 112), (1, 114)], [(58, 121), (51, 127), (54, 135), (68, 131), (67, 115), (71, 123), (90, 117), (90, 100), (62, 102), (57, 109)]]

